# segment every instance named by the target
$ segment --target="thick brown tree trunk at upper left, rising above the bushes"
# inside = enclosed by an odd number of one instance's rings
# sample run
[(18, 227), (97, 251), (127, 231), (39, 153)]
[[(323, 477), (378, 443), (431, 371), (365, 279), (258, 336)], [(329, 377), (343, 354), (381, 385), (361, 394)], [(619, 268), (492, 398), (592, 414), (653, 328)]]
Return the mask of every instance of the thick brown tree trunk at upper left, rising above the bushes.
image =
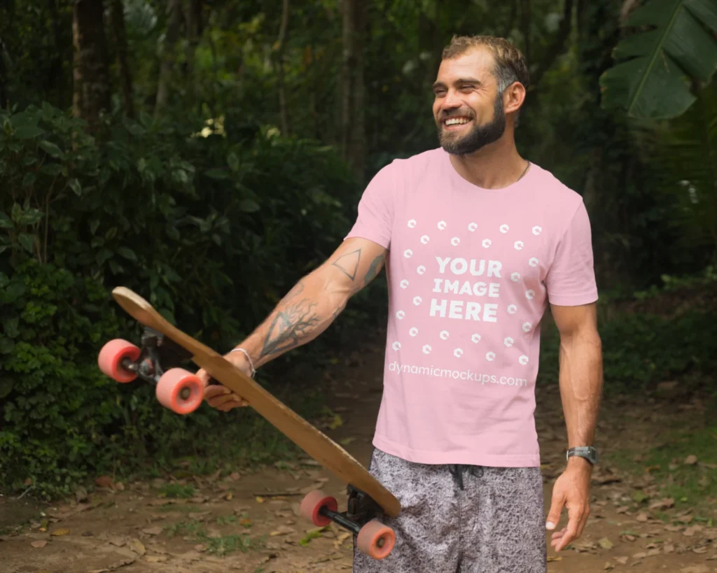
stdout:
[(110, 72), (102, 0), (75, 0), (72, 13), (72, 109), (95, 130), (103, 110), (110, 110)]

